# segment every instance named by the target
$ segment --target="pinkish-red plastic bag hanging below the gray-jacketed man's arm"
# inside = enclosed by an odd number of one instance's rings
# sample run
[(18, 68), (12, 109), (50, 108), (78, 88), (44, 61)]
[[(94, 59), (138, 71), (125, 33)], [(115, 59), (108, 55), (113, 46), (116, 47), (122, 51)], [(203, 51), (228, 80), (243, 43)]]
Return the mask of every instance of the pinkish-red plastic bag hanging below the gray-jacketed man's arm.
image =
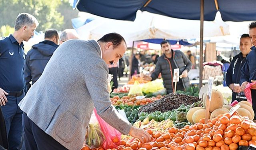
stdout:
[(106, 123), (98, 114), (96, 109), (94, 108), (94, 114), (100, 124), (100, 128), (105, 136), (105, 141), (102, 144), (102, 148), (116, 148), (121, 144), (121, 133)]

